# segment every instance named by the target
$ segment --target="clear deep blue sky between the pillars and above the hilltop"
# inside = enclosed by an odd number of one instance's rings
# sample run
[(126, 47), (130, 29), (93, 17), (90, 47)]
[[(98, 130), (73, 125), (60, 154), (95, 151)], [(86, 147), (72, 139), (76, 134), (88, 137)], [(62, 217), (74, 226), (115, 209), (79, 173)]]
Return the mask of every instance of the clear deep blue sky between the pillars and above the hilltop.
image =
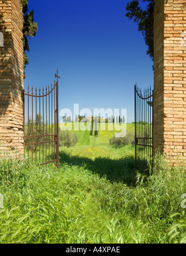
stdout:
[[(38, 22), (30, 40), (24, 86), (47, 86), (58, 68), (59, 106), (127, 109), (134, 121), (134, 85), (153, 87), (153, 62), (128, 0), (29, 0)], [(145, 6), (143, 1), (142, 6)]]

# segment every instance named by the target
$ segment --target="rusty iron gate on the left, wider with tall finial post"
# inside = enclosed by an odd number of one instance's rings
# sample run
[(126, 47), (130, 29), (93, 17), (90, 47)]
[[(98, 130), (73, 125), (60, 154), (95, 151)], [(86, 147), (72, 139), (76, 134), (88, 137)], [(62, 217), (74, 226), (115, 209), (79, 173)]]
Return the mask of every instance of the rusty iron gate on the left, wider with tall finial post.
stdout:
[(59, 168), (58, 71), (54, 85), (24, 94), (25, 159), (35, 166), (54, 163)]

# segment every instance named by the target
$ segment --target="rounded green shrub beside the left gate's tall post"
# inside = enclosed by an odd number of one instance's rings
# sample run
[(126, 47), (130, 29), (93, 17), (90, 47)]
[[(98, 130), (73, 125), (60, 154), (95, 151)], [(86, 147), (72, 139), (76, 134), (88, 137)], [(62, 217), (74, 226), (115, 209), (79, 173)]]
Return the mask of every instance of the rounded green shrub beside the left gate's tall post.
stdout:
[(59, 131), (59, 145), (65, 147), (73, 147), (78, 142), (76, 133), (69, 132), (68, 130)]

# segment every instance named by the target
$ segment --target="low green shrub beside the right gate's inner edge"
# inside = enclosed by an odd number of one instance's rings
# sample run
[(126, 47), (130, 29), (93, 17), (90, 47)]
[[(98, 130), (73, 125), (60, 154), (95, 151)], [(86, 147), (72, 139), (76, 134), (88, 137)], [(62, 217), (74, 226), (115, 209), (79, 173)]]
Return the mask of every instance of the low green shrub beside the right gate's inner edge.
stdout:
[(114, 145), (116, 147), (122, 147), (124, 145), (134, 145), (135, 144), (135, 133), (130, 131), (126, 134), (125, 137), (117, 138), (115, 135), (110, 139), (110, 145)]

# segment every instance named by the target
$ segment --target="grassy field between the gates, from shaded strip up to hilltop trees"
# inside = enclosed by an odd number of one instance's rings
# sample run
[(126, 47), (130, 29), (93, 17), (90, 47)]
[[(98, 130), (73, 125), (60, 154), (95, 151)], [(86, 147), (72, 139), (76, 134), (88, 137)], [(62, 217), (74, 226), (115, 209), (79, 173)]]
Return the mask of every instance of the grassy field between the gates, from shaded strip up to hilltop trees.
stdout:
[[(63, 124), (64, 126), (64, 124)], [(75, 127), (74, 127), (75, 126)], [(107, 176), (110, 181), (123, 181), (127, 184), (135, 182), (135, 147), (116, 148), (109, 145), (110, 138), (120, 129), (119, 124), (99, 124), (99, 135), (90, 136), (89, 130), (78, 130), (79, 123), (73, 124), (78, 135), (78, 143), (74, 147), (60, 147), (61, 162), (77, 167), (84, 167), (101, 177)], [(88, 129), (91, 124), (87, 124)], [(116, 128), (116, 129), (114, 129)], [(134, 130), (134, 124), (127, 125), (128, 131)]]

